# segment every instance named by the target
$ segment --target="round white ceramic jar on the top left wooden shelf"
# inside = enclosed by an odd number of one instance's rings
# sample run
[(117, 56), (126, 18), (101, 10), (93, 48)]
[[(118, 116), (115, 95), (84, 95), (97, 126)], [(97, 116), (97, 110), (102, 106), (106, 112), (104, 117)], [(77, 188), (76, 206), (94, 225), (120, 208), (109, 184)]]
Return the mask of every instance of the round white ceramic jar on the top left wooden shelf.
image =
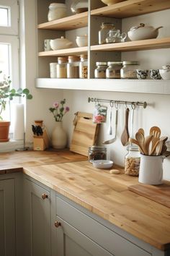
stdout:
[(49, 5), (48, 21), (66, 17), (66, 4), (52, 3)]

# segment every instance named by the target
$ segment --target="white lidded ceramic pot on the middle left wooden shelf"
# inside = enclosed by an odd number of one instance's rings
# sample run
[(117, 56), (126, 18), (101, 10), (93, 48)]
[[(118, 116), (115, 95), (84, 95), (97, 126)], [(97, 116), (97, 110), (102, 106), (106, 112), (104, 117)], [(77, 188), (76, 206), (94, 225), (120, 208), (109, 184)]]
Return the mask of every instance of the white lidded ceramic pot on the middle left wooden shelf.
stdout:
[(73, 44), (73, 42), (64, 38), (63, 36), (61, 36), (61, 38), (56, 38), (56, 39), (50, 40), (50, 47), (53, 50), (70, 48), (72, 46), (72, 44)]

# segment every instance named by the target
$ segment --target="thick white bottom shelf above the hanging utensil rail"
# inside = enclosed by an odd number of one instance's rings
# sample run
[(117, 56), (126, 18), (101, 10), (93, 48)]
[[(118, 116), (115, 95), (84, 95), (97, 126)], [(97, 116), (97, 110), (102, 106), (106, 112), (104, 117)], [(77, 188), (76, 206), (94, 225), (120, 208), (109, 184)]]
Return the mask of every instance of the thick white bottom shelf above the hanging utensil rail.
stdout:
[(170, 94), (170, 80), (37, 78), (36, 88)]

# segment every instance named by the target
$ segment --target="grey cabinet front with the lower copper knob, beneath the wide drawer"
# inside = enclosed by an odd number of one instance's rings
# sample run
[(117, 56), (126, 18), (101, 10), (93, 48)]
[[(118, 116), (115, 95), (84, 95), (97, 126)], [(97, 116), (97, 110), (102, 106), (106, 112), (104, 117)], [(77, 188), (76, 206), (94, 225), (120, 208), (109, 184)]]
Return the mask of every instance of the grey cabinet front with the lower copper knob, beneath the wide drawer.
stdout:
[(57, 256), (112, 256), (73, 226), (57, 217)]

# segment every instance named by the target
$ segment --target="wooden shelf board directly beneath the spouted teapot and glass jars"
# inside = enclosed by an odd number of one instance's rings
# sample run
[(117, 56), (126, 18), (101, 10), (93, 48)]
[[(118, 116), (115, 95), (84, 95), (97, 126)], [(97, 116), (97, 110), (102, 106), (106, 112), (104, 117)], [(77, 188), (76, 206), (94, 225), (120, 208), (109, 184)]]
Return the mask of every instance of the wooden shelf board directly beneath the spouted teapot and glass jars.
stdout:
[(170, 37), (130, 41), (125, 43), (106, 43), (91, 46), (90, 49), (91, 51), (138, 51), (156, 48), (170, 48)]

